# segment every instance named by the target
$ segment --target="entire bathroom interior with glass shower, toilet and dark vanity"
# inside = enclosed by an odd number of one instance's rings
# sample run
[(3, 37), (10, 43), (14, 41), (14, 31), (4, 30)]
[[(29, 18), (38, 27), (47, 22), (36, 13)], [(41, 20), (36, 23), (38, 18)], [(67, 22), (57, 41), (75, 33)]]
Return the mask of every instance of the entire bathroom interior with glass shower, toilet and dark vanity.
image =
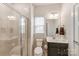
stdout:
[(79, 56), (78, 3), (0, 3), (0, 56)]

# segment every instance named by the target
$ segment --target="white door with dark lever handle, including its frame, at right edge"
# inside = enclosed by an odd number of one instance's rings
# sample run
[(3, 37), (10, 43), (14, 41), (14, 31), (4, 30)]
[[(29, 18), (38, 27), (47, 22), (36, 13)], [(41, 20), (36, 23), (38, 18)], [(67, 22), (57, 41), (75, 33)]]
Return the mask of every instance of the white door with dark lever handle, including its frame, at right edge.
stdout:
[(73, 6), (73, 49), (74, 55), (79, 56), (79, 4)]

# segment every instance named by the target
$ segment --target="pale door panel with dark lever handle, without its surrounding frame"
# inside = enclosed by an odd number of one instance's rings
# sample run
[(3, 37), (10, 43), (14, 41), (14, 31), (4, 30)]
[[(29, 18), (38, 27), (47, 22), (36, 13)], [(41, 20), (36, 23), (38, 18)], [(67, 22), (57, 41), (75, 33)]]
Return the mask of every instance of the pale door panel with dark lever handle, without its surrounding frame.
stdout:
[(74, 54), (79, 56), (79, 4), (75, 5), (75, 40), (74, 40)]

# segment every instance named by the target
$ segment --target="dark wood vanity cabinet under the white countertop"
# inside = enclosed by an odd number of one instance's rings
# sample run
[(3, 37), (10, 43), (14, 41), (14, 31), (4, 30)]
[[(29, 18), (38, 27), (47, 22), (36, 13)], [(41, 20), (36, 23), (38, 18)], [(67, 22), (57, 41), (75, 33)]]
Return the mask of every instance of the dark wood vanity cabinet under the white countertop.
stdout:
[(68, 56), (68, 43), (48, 42), (48, 56)]

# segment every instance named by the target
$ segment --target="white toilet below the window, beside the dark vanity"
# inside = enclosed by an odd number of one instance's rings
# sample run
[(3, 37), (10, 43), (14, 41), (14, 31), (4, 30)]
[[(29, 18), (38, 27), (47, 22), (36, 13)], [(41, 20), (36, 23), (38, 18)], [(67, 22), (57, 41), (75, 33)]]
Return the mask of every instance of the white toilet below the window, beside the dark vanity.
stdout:
[(36, 47), (34, 49), (34, 56), (43, 56), (42, 42), (43, 42), (43, 39), (36, 39)]

